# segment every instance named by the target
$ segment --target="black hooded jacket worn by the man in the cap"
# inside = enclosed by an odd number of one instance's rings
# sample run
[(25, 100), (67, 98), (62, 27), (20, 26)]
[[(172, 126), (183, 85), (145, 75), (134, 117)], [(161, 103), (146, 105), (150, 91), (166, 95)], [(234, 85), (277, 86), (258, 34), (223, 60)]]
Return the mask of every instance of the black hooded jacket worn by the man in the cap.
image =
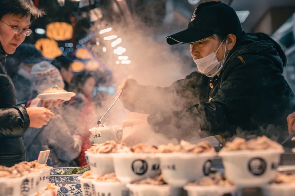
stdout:
[(267, 135), (280, 142), (294, 109), (294, 93), (281, 75), (285, 65), (284, 52), (269, 36), (243, 32), (220, 75), (193, 72), (169, 87), (140, 86), (134, 89), (140, 96), (123, 104), (153, 114), (148, 123), (168, 138), (215, 135), (224, 143)]

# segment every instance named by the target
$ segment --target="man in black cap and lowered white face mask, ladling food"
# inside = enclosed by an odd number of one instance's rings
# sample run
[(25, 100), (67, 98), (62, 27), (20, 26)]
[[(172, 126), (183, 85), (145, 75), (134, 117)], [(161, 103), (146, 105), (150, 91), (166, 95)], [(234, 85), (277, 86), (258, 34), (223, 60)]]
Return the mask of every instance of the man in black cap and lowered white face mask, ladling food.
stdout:
[(186, 140), (214, 135), (221, 143), (233, 136), (287, 137), (294, 93), (281, 75), (286, 56), (269, 36), (245, 33), (230, 6), (210, 1), (166, 41), (190, 44), (195, 72), (166, 88), (134, 79), (118, 88), (125, 108), (151, 114), (155, 132)]

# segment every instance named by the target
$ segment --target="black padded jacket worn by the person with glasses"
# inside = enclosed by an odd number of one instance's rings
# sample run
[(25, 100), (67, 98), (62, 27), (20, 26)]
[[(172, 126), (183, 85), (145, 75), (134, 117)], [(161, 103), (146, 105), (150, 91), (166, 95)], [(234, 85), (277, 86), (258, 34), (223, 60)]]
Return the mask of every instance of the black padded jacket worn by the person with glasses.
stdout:
[[(5, 52), (0, 44), (0, 59)], [(30, 125), (24, 105), (16, 105), (16, 93), (11, 78), (0, 63), (0, 165), (11, 167), (25, 160), (21, 136)]]

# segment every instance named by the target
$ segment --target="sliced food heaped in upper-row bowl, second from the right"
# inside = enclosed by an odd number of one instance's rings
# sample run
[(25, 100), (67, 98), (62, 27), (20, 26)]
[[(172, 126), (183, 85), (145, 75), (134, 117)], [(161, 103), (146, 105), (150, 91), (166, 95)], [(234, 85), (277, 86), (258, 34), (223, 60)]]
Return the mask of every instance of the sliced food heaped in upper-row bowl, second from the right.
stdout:
[(179, 145), (159, 145), (158, 153), (215, 153), (215, 149), (207, 141), (191, 144), (181, 140)]

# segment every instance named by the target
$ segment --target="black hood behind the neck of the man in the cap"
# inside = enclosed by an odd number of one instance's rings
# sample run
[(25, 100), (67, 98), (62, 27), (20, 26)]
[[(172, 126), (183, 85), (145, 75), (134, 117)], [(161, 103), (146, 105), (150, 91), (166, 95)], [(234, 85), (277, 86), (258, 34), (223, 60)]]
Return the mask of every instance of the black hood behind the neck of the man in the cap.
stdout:
[[(263, 52), (266, 48), (270, 48), (272, 51)], [(281, 46), (265, 33), (243, 32), (234, 49), (230, 51), (229, 59), (245, 54), (255, 54), (270, 58), (275, 62), (276, 67), (281, 70), (281, 73), (283, 73), (287, 62), (286, 55)]]

